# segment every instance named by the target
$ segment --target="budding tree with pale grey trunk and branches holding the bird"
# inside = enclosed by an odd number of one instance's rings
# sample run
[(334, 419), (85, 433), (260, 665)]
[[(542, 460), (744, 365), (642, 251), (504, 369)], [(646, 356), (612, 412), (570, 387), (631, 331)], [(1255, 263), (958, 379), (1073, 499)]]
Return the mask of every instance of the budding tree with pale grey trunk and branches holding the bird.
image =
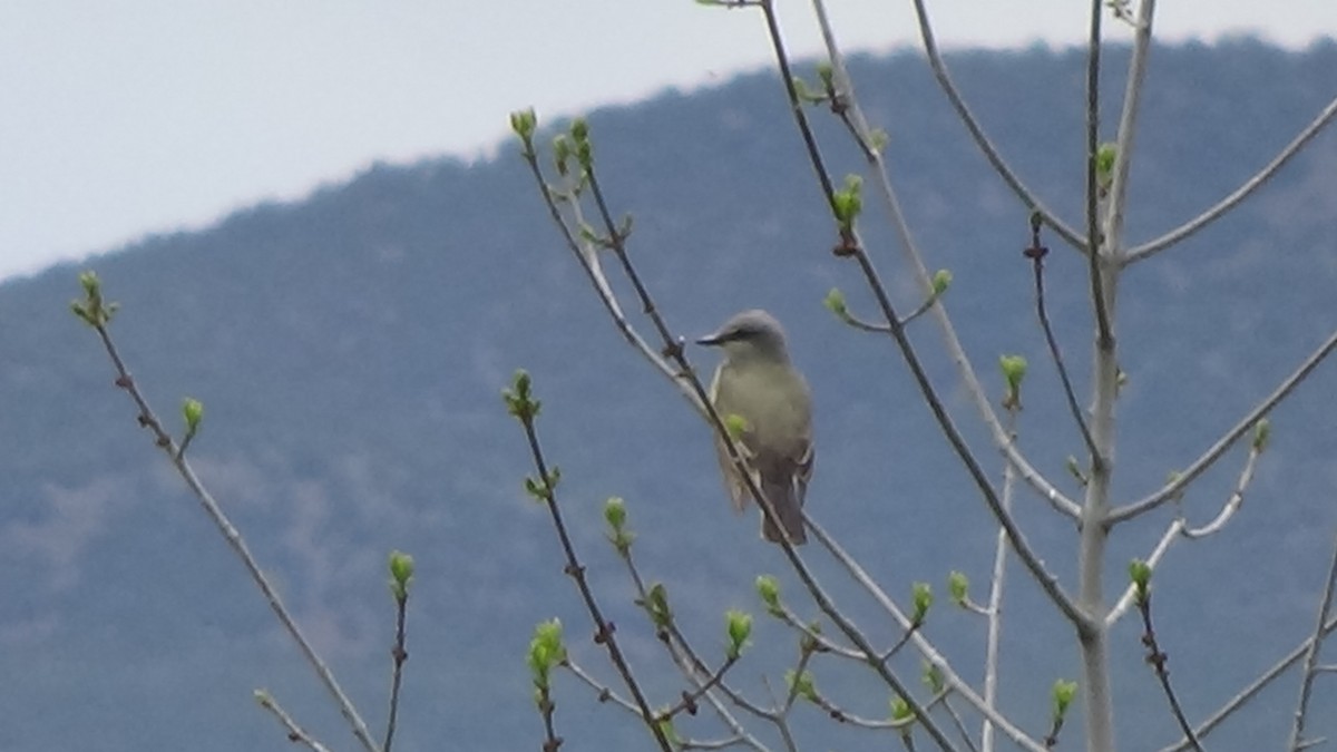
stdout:
[[(1044, 336), (1052, 367), (1056, 368), (1063, 385), (1062, 395), (1056, 399), (1062, 399), (1066, 403), (1067, 412), (1072, 423), (1078, 427), (1083, 442), (1082, 459), (1070, 460), (1070, 472), (1082, 488), (1080, 498), (1075, 498), (1066, 494), (1059, 483), (1046, 478), (1036, 470), (1017, 444), (1016, 426), (1021, 407), (1021, 384), (1027, 371), (1025, 360), (1008, 355), (1000, 357), (1004, 383), (1000, 413), (993, 407), (989, 392), (984, 387), (973, 365), (973, 360), (963, 347), (953, 321), (947, 312), (947, 292), (952, 280), (951, 272), (939, 270), (937, 273), (931, 273), (924, 261), (925, 256), (917, 246), (909, 223), (900, 209), (892, 170), (882, 157), (886, 135), (868, 122), (860, 107), (853, 80), (837, 44), (834, 29), (826, 17), (822, 0), (814, 0), (813, 8), (826, 43), (828, 62), (818, 68), (818, 80), (816, 83), (804, 82), (792, 71), (771, 0), (719, 0), (703, 4), (726, 8), (753, 8), (763, 17), (775, 54), (775, 66), (785, 83), (785, 94), (792, 106), (802, 147), (808, 153), (820, 186), (821, 198), (833, 221), (836, 236), (833, 256), (848, 260), (858, 266), (868, 289), (877, 302), (877, 310), (872, 318), (856, 316), (849, 310), (845, 296), (840, 290), (832, 290), (826, 305), (846, 324), (866, 332), (884, 335), (886, 341), (893, 344), (900, 352), (905, 368), (919, 385), (924, 401), (933, 413), (939, 428), (956, 452), (963, 472), (968, 474), (984, 502), (985, 510), (999, 526), (997, 554), (989, 577), (985, 603), (976, 605), (971, 601), (965, 575), (953, 573), (949, 579), (952, 599), (988, 620), (988, 646), (984, 658), (985, 678), (981, 686), (976, 686), (965, 680), (961, 669), (949, 657), (939, 652), (933, 642), (924, 636), (921, 626), (932, 603), (932, 595), (927, 585), (916, 585), (912, 595), (913, 605), (902, 605), (888, 594), (882, 583), (869, 577), (860, 563), (845, 553), (838, 541), (809, 516), (806, 522), (816, 534), (816, 539), (832, 554), (837, 566), (844, 567), (853, 575), (866, 590), (868, 595), (881, 605), (885, 618), (901, 629), (901, 637), (890, 645), (876, 644), (868, 632), (857, 626), (841, 607), (833, 603), (828, 590), (816, 575), (817, 565), (812, 563), (812, 557), (800, 555), (798, 550), (786, 541), (782, 543), (785, 559), (802, 582), (806, 590), (804, 595), (810, 598), (813, 605), (821, 612), (822, 621), (834, 628), (834, 634), (829, 636), (820, 624), (804, 624), (779, 598), (775, 581), (769, 577), (759, 578), (758, 591), (766, 610), (770, 616), (789, 624), (800, 634), (802, 649), (797, 664), (786, 674), (787, 690), (785, 696), (774, 698), (770, 707), (754, 704), (753, 700), (749, 700), (742, 692), (731, 686), (727, 676), (730, 669), (737, 664), (743, 645), (747, 642), (751, 629), (750, 616), (730, 613), (726, 618), (729, 634), (726, 658), (718, 664), (710, 664), (705, 660), (702, 653), (691, 645), (683, 630), (675, 624), (664, 590), (659, 586), (647, 586), (644, 583), (631, 557), (634, 537), (630, 534), (626, 510), (620, 500), (614, 499), (608, 502), (606, 510), (610, 539), (628, 567), (632, 582), (636, 585), (638, 603), (644, 609), (655, 636), (664, 645), (666, 650), (668, 650), (673, 662), (679, 666), (687, 682), (687, 689), (683, 692), (681, 702), (668, 708), (651, 707), (644, 697), (640, 681), (627, 665), (618, 648), (615, 630), (599, 610), (598, 598), (584, 578), (584, 567), (566, 534), (566, 523), (563, 522), (558, 503), (558, 476), (550, 472), (548, 460), (544, 458), (537, 439), (537, 400), (532, 396), (533, 388), (529, 377), (520, 373), (516, 376), (512, 389), (508, 391), (507, 400), (511, 413), (524, 427), (537, 468), (537, 475), (527, 480), (527, 484), (531, 492), (552, 514), (552, 521), (562, 535), (563, 547), (567, 554), (566, 571), (576, 579), (582, 598), (595, 624), (595, 642), (608, 650), (608, 656), (616, 666), (616, 673), (622, 682), (622, 686), (614, 689), (591, 678), (588, 672), (574, 662), (566, 648), (560, 646), (558, 625), (540, 625), (536, 632), (531, 662), (539, 692), (539, 709), (548, 729), (545, 748), (554, 749), (560, 745), (560, 737), (554, 731), (554, 704), (551, 701), (548, 677), (556, 666), (564, 666), (590, 684), (602, 700), (612, 697), (619, 707), (638, 715), (652, 733), (659, 748), (666, 751), (726, 745), (754, 749), (770, 748), (769, 743), (754, 736), (751, 727), (745, 723), (746, 719), (751, 719), (759, 725), (773, 727), (771, 731), (782, 748), (796, 748), (790, 733), (789, 713), (798, 698), (817, 704), (838, 721), (897, 729), (906, 748), (915, 748), (912, 739), (917, 735), (924, 735), (931, 740), (933, 747), (941, 749), (957, 749), (963, 748), (963, 745), (964, 748), (976, 748), (977, 745), (983, 749), (993, 749), (997, 733), (1001, 733), (1013, 745), (1023, 749), (1050, 748), (1058, 743), (1059, 731), (1063, 728), (1071, 702), (1080, 698), (1080, 705), (1084, 708), (1084, 747), (1091, 751), (1111, 751), (1116, 748), (1114, 737), (1116, 708), (1110, 680), (1110, 630), (1120, 618), (1136, 612), (1140, 614), (1143, 624), (1142, 641), (1146, 646), (1146, 661), (1152, 666), (1170, 712), (1174, 715), (1182, 732), (1182, 740), (1174, 748), (1191, 747), (1201, 749), (1203, 737), (1221, 720), (1238, 712), (1253, 692), (1243, 693), (1237, 701), (1227, 704), (1205, 721), (1194, 721), (1183, 712), (1179, 707), (1174, 685), (1170, 681), (1169, 670), (1166, 669), (1166, 652), (1162, 649), (1152, 629), (1152, 577), (1165, 553), (1177, 541), (1211, 535), (1231, 522), (1250, 484), (1255, 464), (1267, 447), (1270, 427), (1266, 416), (1269, 411), (1304, 381), (1332, 349), (1337, 347), (1337, 333), (1330, 335), (1324, 344), (1316, 348), (1309, 357), (1294, 368), (1288, 379), (1277, 385), (1271, 395), (1254, 405), (1230, 431), (1213, 443), (1189, 467), (1174, 474), (1155, 492), (1131, 503), (1116, 504), (1111, 494), (1111, 482), (1116, 468), (1115, 415), (1119, 389), (1123, 383), (1119, 357), (1120, 348), (1124, 347), (1118, 337), (1119, 318), (1116, 304), (1119, 300), (1119, 281), (1122, 274), (1132, 265), (1147, 261), (1170, 249), (1177, 242), (1190, 237), (1201, 227), (1238, 206), (1239, 202), (1263, 185), (1337, 115), (1337, 100), (1320, 112), (1313, 123), (1266, 167), (1219, 203), (1158, 238), (1140, 245), (1130, 245), (1124, 237), (1128, 167), (1135, 155), (1134, 146), (1139, 124), (1140, 95), (1148, 70), (1148, 52), (1152, 44), (1155, 3), (1144, 0), (1139, 4), (1127, 1), (1106, 3), (1104, 5), (1099, 1), (1091, 4), (1086, 70), (1086, 217), (1084, 222), (1078, 226), (1068, 225), (1063, 218), (1048, 210), (1036, 191), (1016, 175), (989, 140), (984, 128), (976, 122), (967, 102), (955, 87), (943, 56), (937, 51), (925, 4), (923, 1), (915, 3), (925, 52), (937, 82), (980, 151), (1019, 199), (1019, 214), (1024, 211), (1029, 215), (1031, 244), (1025, 249), (1024, 256), (1034, 268), (1036, 318)], [(1123, 23), (1132, 28), (1134, 47), (1131, 63), (1126, 72), (1126, 91), (1123, 94), (1118, 127), (1112, 140), (1104, 142), (1102, 140), (1102, 107), (1108, 95), (1100, 90), (1100, 72), (1102, 52), (1108, 44), (1104, 39), (1103, 25), (1110, 23), (1110, 19), (1114, 23)], [(829, 167), (832, 162), (826, 157), (826, 145), (820, 143), (810, 124), (809, 111), (816, 107), (825, 107), (832, 116), (837, 118), (845, 126), (849, 138), (864, 157), (862, 175), (849, 175), (844, 179), (844, 183), (834, 178)], [(512, 115), (511, 124), (521, 143), (521, 153), (540, 187), (548, 213), (552, 215), (562, 240), (586, 272), (595, 294), (603, 302), (618, 332), (682, 392), (693, 409), (701, 413), (715, 432), (718, 440), (727, 447), (730, 460), (735, 464), (739, 475), (742, 478), (753, 478), (749, 472), (749, 460), (745, 452), (741, 451), (738, 442), (735, 442), (737, 431), (730, 430), (730, 419), (737, 416), (719, 415), (710, 407), (706, 387), (683, 348), (683, 339), (674, 332), (667, 324), (666, 317), (660, 313), (664, 304), (654, 297), (652, 286), (638, 274), (631, 261), (628, 254), (631, 219), (630, 217), (615, 218), (611, 210), (614, 199), (606, 194), (600, 185), (595, 147), (588, 124), (578, 119), (571, 123), (566, 132), (556, 135), (552, 140), (551, 166), (555, 171), (555, 178), (552, 179), (550, 179), (540, 161), (543, 155), (540, 155), (536, 145), (537, 123), (533, 112), (516, 112)], [(921, 290), (923, 302), (912, 313), (900, 313), (900, 306), (893, 302), (893, 296), (888, 293), (881, 278), (881, 272), (874, 262), (874, 256), (864, 241), (861, 227), (864, 221), (865, 185), (873, 186), (874, 201), (881, 205), (885, 214), (890, 218), (894, 236), (905, 256), (905, 266), (913, 273)], [(587, 215), (592, 218), (587, 218)], [(1087, 407), (1083, 407), (1080, 403), (1078, 387), (1074, 384), (1066, 363), (1064, 348), (1055, 337), (1046, 310), (1044, 262), (1050, 253), (1048, 248), (1043, 245), (1043, 236), (1046, 233), (1058, 236), (1066, 245), (1071, 246), (1087, 266), (1090, 310), (1094, 329), (1091, 349), (1094, 367), (1088, 387), (1090, 404)], [(611, 269), (604, 268), (606, 260), (611, 260)], [(610, 277), (612, 276), (623, 276), (630, 282), (634, 290), (632, 301), (619, 298), (619, 294), (615, 292), (616, 285), (610, 282)], [(626, 314), (626, 310), (630, 310), (632, 306), (639, 308), (646, 314), (644, 324), (638, 324), (632, 317)], [(906, 335), (908, 326), (920, 316), (928, 316), (935, 320), (941, 336), (941, 347), (951, 361), (959, 368), (957, 379), (964, 384), (971, 396), (977, 412), (977, 420), (988, 428), (995, 448), (1005, 458), (1001, 484), (995, 483), (989, 478), (981, 459), (964, 440), (956, 419), (945, 407), (943, 392), (948, 385), (935, 383), (929, 377), (920, 349)], [(1050, 397), (1051, 395), (1044, 395), (1044, 399)], [(1193, 526), (1182, 515), (1177, 515), (1162, 531), (1158, 545), (1146, 557), (1134, 559), (1126, 565), (1128, 570), (1127, 586), (1111, 602), (1111, 597), (1104, 593), (1104, 575), (1107, 570), (1119, 565), (1110, 561), (1107, 550), (1110, 533), (1118, 526), (1143, 518), (1146, 512), (1174, 503), (1193, 486), (1194, 480), (1211, 468), (1225, 456), (1229, 448), (1239, 442), (1249, 443), (1249, 452), (1241, 468), (1234, 492), (1221, 504), (1215, 519), (1203, 526)], [(750, 483), (750, 492), (758, 507), (763, 510), (767, 518), (774, 518), (770, 502), (761, 492), (759, 487), (755, 482)], [(1060, 583), (1062, 581), (1052, 569), (1052, 565), (1043, 561), (1035, 551), (1027, 538), (1025, 530), (1011, 511), (1012, 496), (1017, 491), (1027, 488), (1047, 500), (1055, 514), (1068, 518), (1074, 523), (1075, 535), (1078, 537), (1078, 559), (1075, 562), (1078, 587), (1075, 591), (1070, 591)], [(996, 704), (997, 632), (1001, 624), (1000, 606), (1003, 602), (1003, 586), (1007, 582), (1008, 562), (1013, 557), (1020, 562), (1025, 575), (1044, 590), (1050, 606), (1059, 612), (1068, 622), (1082, 657), (1080, 677), (1076, 681), (1060, 678), (1055, 682), (1052, 724), (1043, 735), (1027, 732), (1019, 723), (1003, 715)], [(1316, 741), (1306, 736), (1305, 723), (1309, 717), (1309, 698), (1313, 684), (1318, 674), (1326, 670), (1317, 662), (1318, 649), (1324, 637), (1337, 626), (1337, 618), (1333, 618), (1330, 613), (1334, 578), (1337, 578), (1337, 558), (1329, 566), (1326, 586), (1317, 598), (1317, 617), (1309, 640), (1292, 650), (1274, 672), (1269, 672), (1267, 676), (1259, 678), (1261, 684), (1266, 684), (1281, 669), (1301, 660), (1304, 662), (1304, 669), (1301, 670), (1302, 689), (1296, 705), (1294, 725), (1289, 744), (1290, 749), (1306, 748)], [(889, 660), (901, 650), (913, 650), (923, 656), (925, 662), (925, 682), (929, 688), (927, 693), (916, 692), (913, 689), (915, 682), (890, 666)], [(857, 719), (844, 709), (840, 702), (816, 689), (809, 668), (817, 661), (829, 657), (846, 658), (880, 680), (892, 698), (892, 713), (888, 720)], [(682, 717), (683, 713), (695, 713), (699, 704), (709, 704), (718, 716), (725, 729), (722, 737), (711, 740), (689, 739), (677, 731), (674, 720)], [(961, 707), (964, 707), (965, 712), (981, 719), (977, 733), (967, 729), (960, 715)], [(960, 733), (960, 740), (953, 739), (953, 735), (957, 732)]]

